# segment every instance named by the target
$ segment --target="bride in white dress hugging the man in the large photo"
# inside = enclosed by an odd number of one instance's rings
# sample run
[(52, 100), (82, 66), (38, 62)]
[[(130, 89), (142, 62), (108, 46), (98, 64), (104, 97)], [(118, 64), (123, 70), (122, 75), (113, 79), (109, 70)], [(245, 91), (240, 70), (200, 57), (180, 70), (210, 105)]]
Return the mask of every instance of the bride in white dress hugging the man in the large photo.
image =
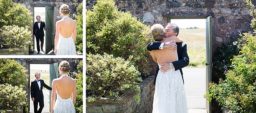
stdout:
[[(173, 31), (169, 30), (167, 32)], [(151, 27), (151, 34), (155, 41), (168, 42), (175, 40), (177, 43), (183, 42), (183, 40), (174, 35), (164, 38), (164, 27), (160, 24), (155, 24)], [(177, 51), (168, 48), (152, 50), (150, 55), (158, 63), (159, 68), (163, 66), (161, 65), (162, 63), (178, 60)], [(158, 72), (152, 113), (188, 113), (186, 94), (180, 70), (174, 71), (174, 69), (170, 69), (165, 73)]]

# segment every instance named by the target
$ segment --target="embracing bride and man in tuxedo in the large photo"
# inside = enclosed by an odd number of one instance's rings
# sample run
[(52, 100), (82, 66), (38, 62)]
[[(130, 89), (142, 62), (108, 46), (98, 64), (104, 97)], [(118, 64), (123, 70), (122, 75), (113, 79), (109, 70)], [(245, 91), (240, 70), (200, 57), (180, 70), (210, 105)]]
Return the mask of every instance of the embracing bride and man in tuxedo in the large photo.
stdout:
[(149, 43), (147, 49), (158, 63), (152, 113), (188, 113), (181, 68), (189, 64), (189, 57), (186, 44), (177, 37), (179, 27), (173, 23), (165, 28), (155, 24), (151, 34), (156, 42)]

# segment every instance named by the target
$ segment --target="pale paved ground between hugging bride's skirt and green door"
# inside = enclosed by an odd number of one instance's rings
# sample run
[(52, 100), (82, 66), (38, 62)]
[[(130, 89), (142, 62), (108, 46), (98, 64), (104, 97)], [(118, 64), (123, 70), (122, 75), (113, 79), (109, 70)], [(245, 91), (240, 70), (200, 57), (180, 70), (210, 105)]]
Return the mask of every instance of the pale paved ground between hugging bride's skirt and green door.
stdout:
[(182, 68), (189, 113), (207, 113), (205, 107), (205, 68)]

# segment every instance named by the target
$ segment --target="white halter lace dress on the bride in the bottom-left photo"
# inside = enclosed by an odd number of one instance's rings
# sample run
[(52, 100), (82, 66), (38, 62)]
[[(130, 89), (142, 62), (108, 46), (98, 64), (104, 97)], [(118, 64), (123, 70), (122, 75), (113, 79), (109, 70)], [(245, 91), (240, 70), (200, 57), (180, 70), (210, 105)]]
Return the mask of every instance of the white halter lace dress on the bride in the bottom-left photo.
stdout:
[(57, 94), (57, 99), (55, 101), (54, 108), (53, 108), (54, 113), (76, 113), (71, 97), (68, 99), (62, 99), (59, 96), (58, 91), (56, 91), (56, 94)]

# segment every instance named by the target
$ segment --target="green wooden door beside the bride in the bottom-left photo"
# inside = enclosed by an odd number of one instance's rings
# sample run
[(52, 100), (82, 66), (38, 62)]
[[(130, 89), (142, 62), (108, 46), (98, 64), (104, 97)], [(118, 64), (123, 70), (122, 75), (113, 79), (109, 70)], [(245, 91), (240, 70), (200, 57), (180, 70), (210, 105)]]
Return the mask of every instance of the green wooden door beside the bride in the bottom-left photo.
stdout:
[[(50, 64), (50, 87), (52, 88), (52, 80), (53, 79), (57, 79), (59, 78), (59, 63), (54, 63), (54, 64)], [(51, 109), (51, 97), (52, 97), (52, 91), (50, 91), (50, 107), (49, 107), (49, 111), (52, 112)]]

